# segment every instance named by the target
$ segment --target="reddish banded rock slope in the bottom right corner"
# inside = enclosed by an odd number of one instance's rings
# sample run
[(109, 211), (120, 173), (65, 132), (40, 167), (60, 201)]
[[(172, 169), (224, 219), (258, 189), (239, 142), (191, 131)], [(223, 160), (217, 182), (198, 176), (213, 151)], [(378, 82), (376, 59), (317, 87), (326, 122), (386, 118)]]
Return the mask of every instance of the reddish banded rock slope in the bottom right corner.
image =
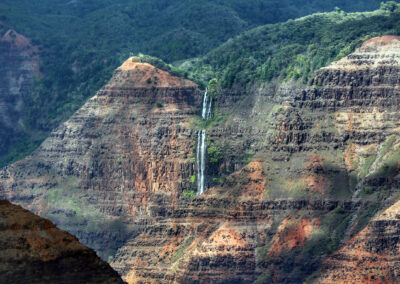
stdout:
[(318, 283), (397, 283), (400, 201), (370, 221), (322, 264)]

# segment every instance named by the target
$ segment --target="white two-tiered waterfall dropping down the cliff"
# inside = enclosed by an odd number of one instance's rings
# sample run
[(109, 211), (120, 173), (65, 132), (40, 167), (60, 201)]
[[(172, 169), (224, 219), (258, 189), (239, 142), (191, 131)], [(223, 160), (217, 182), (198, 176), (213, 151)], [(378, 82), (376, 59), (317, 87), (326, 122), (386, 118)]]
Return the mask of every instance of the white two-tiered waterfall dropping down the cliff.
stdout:
[[(204, 93), (203, 107), (201, 110), (201, 117), (204, 120), (211, 118), (212, 96), (208, 95), (208, 89)], [(206, 171), (206, 151), (207, 139), (206, 131), (199, 130), (197, 132), (197, 195), (202, 194), (205, 189), (205, 171)]]

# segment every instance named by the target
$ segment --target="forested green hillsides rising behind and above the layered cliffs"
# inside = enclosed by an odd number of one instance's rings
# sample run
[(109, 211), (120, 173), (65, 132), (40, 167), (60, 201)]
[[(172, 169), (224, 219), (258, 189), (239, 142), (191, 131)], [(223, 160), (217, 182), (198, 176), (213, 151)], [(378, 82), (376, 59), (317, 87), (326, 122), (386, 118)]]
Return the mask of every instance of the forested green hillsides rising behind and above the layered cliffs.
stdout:
[[(336, 6), (346, 11), (374, 9), (379, 2), (4, 0), (0, 4), (0, 32), (15, 29), (40, 47), (43, 76), (36, 80), (33, 94), (25, 98), (29, 107), (24, 118), (25, 128), (40, 133), (40, 137), (26, 133), (7, 140), (2, 135), (0, 145), (7, 150), (0, 155), (9, 155), (1, 157), (0, 165), (31, 152), (132, 53), (149, 53), (171, 63), (205, 54), (258, 25), (332, 11)], [(229, 40), (204, 58), (186, 61), (182, 67), (198, 82), (217, 78), (223, 87), (275, 77), (307, 80), (316, 69), (348, 54), (364, 39), (398, 34), (397, 10), (395, 3), (387, 3), (373, 13), (337, 10), (262, 26)], [(187, 75), (155, 57), (138, 57), (173, 74)], [(26, 151), (13, 146), (18, 144)]]

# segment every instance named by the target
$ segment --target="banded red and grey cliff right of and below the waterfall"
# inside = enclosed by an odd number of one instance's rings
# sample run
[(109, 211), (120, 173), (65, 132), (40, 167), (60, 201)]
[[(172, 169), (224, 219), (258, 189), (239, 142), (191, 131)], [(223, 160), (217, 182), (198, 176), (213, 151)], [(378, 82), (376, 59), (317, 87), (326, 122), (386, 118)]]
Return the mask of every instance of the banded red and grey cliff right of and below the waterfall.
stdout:
[(208, 167), (216, 187), (178, 210), (154, 203), (154, 222), (112, 265), (130, 283), (316, 281), (327, 255), (397, 199), (399, 43), (368, 41), (309, 86), (220, 94), (226, 118), (207, 130), (223, 153)]

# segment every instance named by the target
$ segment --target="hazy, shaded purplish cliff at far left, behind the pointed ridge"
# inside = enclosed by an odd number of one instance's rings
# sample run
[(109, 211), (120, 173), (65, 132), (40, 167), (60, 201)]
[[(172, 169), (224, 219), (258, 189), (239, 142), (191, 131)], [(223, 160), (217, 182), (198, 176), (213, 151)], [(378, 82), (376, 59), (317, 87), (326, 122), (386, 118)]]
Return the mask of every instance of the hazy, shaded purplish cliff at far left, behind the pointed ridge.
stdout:
[(24, 130), (24, 102), (38, 75), (37, 47), (13, 30), (3, 31), (0, 23), (0, 158)]

